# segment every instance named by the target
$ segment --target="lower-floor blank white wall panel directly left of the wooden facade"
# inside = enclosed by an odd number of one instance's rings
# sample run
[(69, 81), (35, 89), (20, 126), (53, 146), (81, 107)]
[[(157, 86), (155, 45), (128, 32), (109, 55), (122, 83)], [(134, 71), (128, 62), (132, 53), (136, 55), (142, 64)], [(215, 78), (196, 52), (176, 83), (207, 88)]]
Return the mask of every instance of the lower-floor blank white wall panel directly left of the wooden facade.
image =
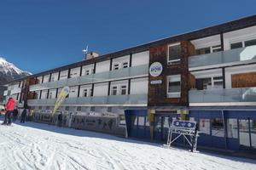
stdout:
[(148, 94), (148, 78), (131, 79), (130, 94)]

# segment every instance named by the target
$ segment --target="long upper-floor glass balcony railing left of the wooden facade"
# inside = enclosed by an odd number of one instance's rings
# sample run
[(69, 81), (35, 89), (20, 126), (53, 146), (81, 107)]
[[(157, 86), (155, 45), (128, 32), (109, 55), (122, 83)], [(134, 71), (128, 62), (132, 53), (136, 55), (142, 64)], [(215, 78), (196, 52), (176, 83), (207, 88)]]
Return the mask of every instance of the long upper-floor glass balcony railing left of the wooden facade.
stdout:
[(95, 82), (108, 82), (118, 80), (125, 77), (142, 77), (148, 75), (148, 65), (138, 65), (120, 69), (116, 71), (106, 71), (96, 74), (86, 75), (83, 77), (73, 77), (55, 82), (46, 82), (43, 84), (35, 84), (29, 87), (30, 91), (44, 90), (48, 88), (62, 88), (65, 86), (74, 86)]

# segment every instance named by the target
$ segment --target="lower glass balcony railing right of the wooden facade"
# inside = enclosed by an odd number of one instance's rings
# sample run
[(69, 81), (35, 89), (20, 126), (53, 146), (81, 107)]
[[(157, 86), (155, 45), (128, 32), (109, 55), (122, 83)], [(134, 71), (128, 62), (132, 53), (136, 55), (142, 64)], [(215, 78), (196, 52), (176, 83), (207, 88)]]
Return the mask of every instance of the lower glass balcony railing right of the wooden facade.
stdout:
[(189, 106), (256, 105), (256, 88), (190, 90)]

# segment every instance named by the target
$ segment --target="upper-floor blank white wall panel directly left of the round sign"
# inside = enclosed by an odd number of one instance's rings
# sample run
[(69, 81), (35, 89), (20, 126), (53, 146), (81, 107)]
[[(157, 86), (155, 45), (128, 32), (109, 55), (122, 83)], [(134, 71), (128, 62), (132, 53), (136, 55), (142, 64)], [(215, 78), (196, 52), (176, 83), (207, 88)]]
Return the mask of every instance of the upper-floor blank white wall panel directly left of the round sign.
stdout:
[(147, 65), (149, 63), (149, 51), (132, 54), (131, 57), (131, 66)]

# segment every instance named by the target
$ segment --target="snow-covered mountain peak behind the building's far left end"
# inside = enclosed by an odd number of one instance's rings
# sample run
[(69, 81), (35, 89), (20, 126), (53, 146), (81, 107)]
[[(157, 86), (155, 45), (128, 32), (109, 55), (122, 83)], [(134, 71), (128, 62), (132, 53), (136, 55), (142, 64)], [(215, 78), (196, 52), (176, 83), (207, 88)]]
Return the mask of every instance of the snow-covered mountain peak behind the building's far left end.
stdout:
[(0, 57), (0, 84), (29, 75), (32, 75), (32, 73), (28, 71), (21, 71), (14, 64), (9, 63), (3, 57)]

